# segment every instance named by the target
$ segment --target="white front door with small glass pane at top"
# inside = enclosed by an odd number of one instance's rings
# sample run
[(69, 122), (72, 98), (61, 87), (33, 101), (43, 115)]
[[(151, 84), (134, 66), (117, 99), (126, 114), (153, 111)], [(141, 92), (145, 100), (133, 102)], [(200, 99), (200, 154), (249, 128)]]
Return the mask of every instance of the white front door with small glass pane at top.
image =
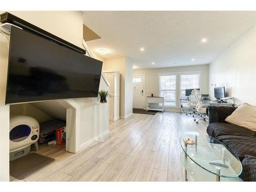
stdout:
[(133, 76), (133, 108), (144, 109), (144, 75)]

